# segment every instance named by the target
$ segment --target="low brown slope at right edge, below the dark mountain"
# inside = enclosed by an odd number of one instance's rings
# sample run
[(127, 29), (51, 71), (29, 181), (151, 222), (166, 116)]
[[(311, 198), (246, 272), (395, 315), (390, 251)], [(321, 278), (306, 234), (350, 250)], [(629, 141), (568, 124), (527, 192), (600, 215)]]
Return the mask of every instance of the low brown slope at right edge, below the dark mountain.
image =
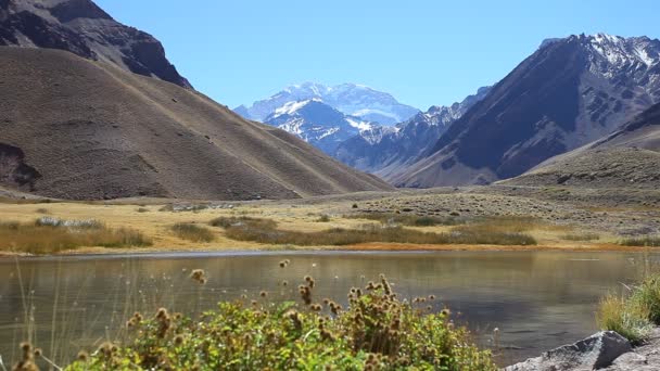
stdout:
[(660, 104), (604, 139), (549, 158), (505, 184), (650, 188), (660, 184)]

